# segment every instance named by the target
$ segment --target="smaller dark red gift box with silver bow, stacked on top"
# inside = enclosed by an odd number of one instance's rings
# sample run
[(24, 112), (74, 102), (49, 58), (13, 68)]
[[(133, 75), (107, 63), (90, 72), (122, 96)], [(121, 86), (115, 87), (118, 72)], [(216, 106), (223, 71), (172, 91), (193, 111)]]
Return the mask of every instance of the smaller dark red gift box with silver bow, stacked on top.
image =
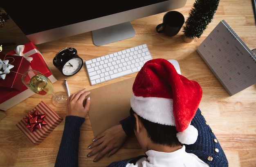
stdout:
[(22, 74), (29, 69), (29, 61), (22, 56), (0, 55), (1, 60), (9, 60), (9, 64), (14, 67), (6, 75), (5, 79), (0, 79), (0, 90), (18, 91), (22, 89)]

